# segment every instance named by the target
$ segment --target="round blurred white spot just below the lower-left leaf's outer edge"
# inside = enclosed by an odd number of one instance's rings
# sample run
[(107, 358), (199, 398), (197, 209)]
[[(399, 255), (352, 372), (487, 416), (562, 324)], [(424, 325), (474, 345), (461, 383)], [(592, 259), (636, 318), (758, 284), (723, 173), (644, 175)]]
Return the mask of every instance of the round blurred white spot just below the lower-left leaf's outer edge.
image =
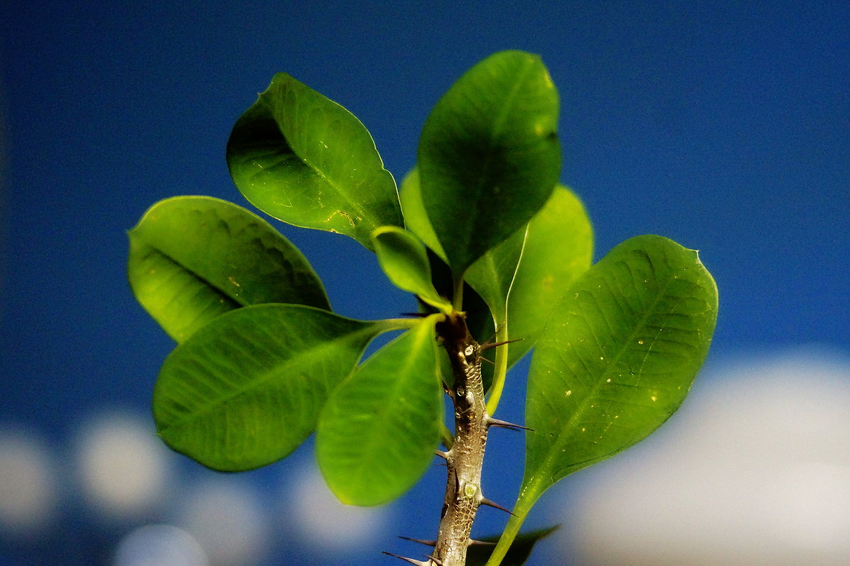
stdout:
[(173, 454), (150, 418), (109, 412), (84, 423), (75, 459), (88, 502), (107, 517), (143, 517), (166, 500)]

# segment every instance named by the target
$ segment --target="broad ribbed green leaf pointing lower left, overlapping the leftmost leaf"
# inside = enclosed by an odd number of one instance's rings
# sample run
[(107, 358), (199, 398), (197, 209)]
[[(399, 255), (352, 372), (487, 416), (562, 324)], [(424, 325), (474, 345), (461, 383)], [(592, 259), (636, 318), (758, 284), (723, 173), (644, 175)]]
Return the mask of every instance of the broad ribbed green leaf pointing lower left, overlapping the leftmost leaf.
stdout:
[(388, 329), (387, 322), (301, 305), (228, 312), (162, 365), (153, 400), (157, 432), (174, 450), (220, 471), (280, 460), (309, 436), (331, 390)]

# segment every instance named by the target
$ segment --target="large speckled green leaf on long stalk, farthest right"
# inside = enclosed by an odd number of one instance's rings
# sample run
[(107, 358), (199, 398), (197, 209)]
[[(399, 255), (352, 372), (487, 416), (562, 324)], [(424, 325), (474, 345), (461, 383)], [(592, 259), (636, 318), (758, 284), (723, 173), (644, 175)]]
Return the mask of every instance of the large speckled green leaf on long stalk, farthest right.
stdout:
[(558, 479), (643, 440), (677, 410), (716, 320), (717, 286), (697, 252), (660, 236), (626, 240), (573, 283), (531, 358), (534, 432), (501, 550)]

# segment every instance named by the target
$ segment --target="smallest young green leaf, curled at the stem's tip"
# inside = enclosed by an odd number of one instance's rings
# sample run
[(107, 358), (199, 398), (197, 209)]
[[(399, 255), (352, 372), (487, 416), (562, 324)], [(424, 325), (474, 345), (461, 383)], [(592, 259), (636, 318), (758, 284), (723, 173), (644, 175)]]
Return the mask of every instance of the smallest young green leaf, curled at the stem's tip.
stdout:
[(416, 236), (403, 228), (384, 226), (372, 233), (372, 242), (378, 263), (396, 287), (440, 311), (451, 311), (451, 303), (433, 288), (428, 253)]

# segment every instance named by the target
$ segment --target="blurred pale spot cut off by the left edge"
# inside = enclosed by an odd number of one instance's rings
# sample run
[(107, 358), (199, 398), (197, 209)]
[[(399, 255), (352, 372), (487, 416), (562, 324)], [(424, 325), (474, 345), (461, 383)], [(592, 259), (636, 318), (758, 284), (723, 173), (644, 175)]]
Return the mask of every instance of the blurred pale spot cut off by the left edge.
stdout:
[(0, 429), (0, 529), (37, 535), (54, 518), (58, 484), (48, 446), (22, 429)]

